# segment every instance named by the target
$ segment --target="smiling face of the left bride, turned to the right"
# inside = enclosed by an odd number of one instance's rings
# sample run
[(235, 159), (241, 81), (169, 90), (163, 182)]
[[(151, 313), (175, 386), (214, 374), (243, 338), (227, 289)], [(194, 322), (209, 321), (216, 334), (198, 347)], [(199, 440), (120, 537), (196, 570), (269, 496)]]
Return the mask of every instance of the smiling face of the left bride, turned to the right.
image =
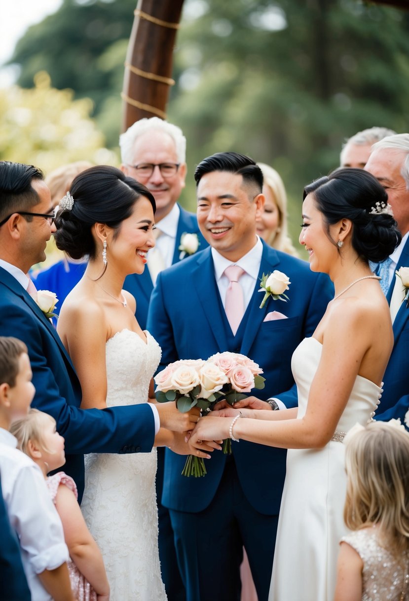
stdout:
[(148, 198), (140, 197), (133, 212), (122, 221), (118, 230), (110, 230), (107, 236), (107, 264), (125, 275), (143, 273), (146, 254), (155, 246), (152, 228), (155, 224), (154, 210)]

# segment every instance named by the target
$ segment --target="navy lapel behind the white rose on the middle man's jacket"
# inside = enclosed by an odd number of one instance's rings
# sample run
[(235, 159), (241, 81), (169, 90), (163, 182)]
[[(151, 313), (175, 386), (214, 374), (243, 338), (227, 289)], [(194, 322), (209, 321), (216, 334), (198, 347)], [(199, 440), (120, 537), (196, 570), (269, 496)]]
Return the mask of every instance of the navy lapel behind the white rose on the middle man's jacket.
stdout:
[(246, 329), (243, 335), (241, 352), (243, 355), (247, 355), (251, 349), (254, 338), (257, 337), (258, 330), (260, 329), (261, 323), (267, 313), (271, 311), (270, 301), (271, 297), (267, 300), (266, 304), (260, 309), (261, 301), (263, 300), (263, 294), (258, 292), (260, 290), (260, 280), (263, 273), (271, 273), (276, 269), (279, 264), (279, 258), (275, 251), (269, 249), (269, 247), (263, 243), (263, 254), (261, 255), (260, 270), (258, 271), (257, 282), (255, 282), (254, 291), (249, 302), (249, 313), (247, 317)]

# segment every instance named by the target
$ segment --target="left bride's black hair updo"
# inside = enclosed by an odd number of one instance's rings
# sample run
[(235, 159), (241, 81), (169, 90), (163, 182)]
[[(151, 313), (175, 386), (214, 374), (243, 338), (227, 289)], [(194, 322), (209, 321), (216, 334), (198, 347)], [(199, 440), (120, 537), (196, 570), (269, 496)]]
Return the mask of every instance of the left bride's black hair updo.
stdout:
[(108, 165), (91, 167), (77, 175), (70, 194), (73, 208), (58, 211), (54, 237), (57, 247), (73, 259), (95, 257), (92, 225), (106, 224), (115, 230), (116, 237), (122, 221), (131, 216), (140, 197), (147, 198), (156, 210), (155, 198), (148, 188)]

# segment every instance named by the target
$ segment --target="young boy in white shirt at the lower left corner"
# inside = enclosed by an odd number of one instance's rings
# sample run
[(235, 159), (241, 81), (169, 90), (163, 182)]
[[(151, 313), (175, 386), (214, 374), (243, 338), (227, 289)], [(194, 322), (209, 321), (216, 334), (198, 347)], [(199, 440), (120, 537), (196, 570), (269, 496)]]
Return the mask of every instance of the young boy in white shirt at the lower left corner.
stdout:
[(74, 601), (61, 520), (40, 468), (16, 449), (8, 432), (28, 412), (34, 386), (27, 347), (0, 337), (0, 474), (11, 528), (19, 537), (32, 601)]

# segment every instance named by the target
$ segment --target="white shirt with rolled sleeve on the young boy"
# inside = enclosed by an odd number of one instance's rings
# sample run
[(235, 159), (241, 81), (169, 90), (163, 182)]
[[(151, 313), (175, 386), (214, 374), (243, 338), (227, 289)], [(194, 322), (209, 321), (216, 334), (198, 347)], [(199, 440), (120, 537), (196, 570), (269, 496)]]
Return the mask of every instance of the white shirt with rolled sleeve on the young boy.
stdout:
[(16, 446), (16, 438), (0, 428), (1, 486), (8, 519), (19, 537), (32, 601), (52, 601), (37, 574), (68, 561), (64, 531), (41, 469)]

